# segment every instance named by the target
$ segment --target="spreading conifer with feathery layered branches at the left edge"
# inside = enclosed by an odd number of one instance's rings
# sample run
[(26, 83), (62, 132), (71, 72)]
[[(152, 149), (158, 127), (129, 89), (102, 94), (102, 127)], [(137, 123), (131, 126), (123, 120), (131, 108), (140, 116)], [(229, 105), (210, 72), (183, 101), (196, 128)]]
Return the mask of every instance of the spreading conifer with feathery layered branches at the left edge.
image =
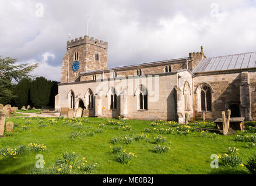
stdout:
[(23, 78), (34, 78), (29, 73), (39, 65), (39, 63), (15, 65), (16, 62), (17, 59), (1, 58), (0, 56), (0, 102), (3, 104), (10, 102), (15, 97), (12, 90), (12, 81), (18, 82)]

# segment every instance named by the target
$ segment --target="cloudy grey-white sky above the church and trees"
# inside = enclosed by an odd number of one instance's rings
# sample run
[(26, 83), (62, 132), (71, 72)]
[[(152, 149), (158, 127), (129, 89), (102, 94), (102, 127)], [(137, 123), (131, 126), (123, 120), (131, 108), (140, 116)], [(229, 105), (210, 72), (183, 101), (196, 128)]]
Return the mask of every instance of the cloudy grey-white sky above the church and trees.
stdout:
[[(89, 17), (89, 28), (87, 28)], [(108, 42), (108, 67), (256, 51), (256, 0), (1, 0), (0, 56), (60, 81), (66, 41)], [(71, 34), (71, 35), (69, 35)]]

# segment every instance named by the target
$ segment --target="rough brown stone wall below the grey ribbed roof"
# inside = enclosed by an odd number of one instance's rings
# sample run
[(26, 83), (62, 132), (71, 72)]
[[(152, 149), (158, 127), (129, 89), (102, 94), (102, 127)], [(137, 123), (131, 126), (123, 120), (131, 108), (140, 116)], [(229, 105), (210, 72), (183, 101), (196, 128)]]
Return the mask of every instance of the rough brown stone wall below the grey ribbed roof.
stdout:
[[(255, 118), (256, 116), (256, 72), (249, 72), (248, 78), (250, 79), (250, 93), (251, 93), (251, 113)], [(240, 107), (240, 115), (243, 115), (241, 108), (241, 95), (244, 93), (240, 92), (241, 82), (241, 71), (237, 72), (225, 72), (222, 73), (204, 73), (196, 74), (194, 78), (194, 93), (195, 93), (195, 114), (197, 117), (201, 117), (202, 112), (199, 106), (199, 92), (197, 88), (199, 85), (206, 83), (209, 84), (212, 89), (212, 112), (206, 112), (206, 117), (215, 119), (222, 117), (221, 112), (229, 109), (232, 104), (237, 104)]]

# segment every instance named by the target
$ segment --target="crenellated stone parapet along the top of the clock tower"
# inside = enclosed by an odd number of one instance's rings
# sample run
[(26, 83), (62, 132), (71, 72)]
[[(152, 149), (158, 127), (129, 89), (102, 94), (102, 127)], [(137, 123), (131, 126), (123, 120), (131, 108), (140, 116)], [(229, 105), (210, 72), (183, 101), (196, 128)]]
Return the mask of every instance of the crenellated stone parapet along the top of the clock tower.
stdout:
[(84, 37), (79, 37), (79, 38), (75, 38), (75, 40), (67, 41), (66, 48), (76, 47), (78, 45), (83, 45), (83, 44), (96, 45), (97, 47), (101, 47), (105, 49), (107, 49), (107, 45), (108, 45), (107, 42), (94, 39), (93, 37), (89, 38), (88, 35), (85, 35)]

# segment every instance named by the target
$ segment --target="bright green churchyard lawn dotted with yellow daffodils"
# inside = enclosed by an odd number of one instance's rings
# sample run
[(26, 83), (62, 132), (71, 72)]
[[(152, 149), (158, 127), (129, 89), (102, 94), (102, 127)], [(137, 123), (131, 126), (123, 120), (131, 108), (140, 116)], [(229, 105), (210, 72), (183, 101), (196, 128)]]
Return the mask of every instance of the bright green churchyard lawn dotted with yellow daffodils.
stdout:
[[(123, 121), (121, 124), (118, 123), (120, 120), (114, 120), (113, 125), (108, 123), (107, 119), (101, 118), (63, 120), (33, 117), (8, 120), (15, 123), (15, 128), (12, 133), (5, 133), (6, 136), (0, 138), (0, 149), (15, 149), (19, 145), (26, 145), (26, 149), (21, 155), (15, 156), (16, 159), (0, 155), (0, 174), (30, 174), (37, 161), (35, 159), (37, 154), (43, 155), (44, 169), (50, 169), (50, 166), (52, 168), (54, 162), (65, 152), (71, 155), (74, 152), (75, 155), (79, 155), (79, 160), (86, 158), (86, 164), (90, 164), (91, 167), (94, 164), (96, 169), (92, 169), (93, 174), (249, 174), (246, 167), (240, 166), (228, 168), (220, 164), (219, 169), (212, 169), (211, 155), (224, 155), (229, 146), (236, 147), (240, 149), (239, 157), (243, 160), (243, 164), (246, 164), (248, 158), (256, 153), (256, 148), (248, 148), (247, 142), (236, 141), (237, 134), (218, 135), (215, 138), (211, 137), (211, 134), (202, 137), (201, 132), (197, 130), (188, 135), (177, 134), (177, 126), (163, 124), (152, 126), (152, 121), (145, 120), (127, 120), (126, 126), (122, 126)], [(100, 126), (101, 123), (104, 125)], [(174, 132), (167, 134), (166, 129)], [(161, 145), (170, 147), (169, 151), (154, 152), (156, 135), (166, 137), (166, 141)], [(111, 143), (111, 139), (121, 136), (122, 141), (114, 145)], [(142, 138), (132, 142), (131, 139), (134, 137)], [(131, 144), (128, 144), (129, 139)], [(46, 149), (42, 152), (29, 151), (30, 143), (45, 145)], [(132, 152), (137, 157), (132, 156), (131, 163), (122, 164), (117, 161), (118, 155), (112, 153), (113, 146), (121, 146), (122, 151), (125, 149), (125, 152)], [(55, 169), (56, 173), (61, 173), (63, 168), (58, 165), (52, 169)], [(86, 167), (86, 170), (88, 169)], [(73, 170), (75, 173), (75, 168)]]

